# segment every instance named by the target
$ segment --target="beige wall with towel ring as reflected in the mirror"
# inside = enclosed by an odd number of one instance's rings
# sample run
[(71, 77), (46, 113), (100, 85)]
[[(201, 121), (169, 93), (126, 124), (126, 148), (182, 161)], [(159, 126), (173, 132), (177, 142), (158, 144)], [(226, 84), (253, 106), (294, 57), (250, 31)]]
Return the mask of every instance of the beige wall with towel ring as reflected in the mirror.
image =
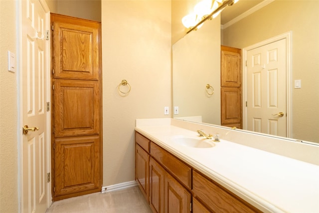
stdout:
[[(220, 125), (219, 32), (217, 16), (174, 43), (173, 105), (179, 109), (174, 117), (202, 116), (202, 122)], [(206, 93), (207, 84), (214, 88), (211, 96)]]

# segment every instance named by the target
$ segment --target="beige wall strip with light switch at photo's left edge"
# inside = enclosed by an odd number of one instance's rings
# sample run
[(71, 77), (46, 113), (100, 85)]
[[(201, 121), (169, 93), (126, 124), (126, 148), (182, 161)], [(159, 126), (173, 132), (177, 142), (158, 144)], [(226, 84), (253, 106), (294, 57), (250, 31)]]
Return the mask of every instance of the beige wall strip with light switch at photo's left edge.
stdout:
[(7, 71), (16, 49), (16, 1), (0, 0), (0, 212), (18, 211), (17, 73)]

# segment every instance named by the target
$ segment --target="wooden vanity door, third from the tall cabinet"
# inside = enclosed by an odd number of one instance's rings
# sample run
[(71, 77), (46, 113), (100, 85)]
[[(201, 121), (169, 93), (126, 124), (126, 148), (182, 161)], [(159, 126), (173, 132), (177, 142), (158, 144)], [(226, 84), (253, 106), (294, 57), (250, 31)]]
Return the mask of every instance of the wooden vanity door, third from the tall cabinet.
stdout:
[(165, 213), (190, 213), (191, 194), (168, 173), (164, 193)]

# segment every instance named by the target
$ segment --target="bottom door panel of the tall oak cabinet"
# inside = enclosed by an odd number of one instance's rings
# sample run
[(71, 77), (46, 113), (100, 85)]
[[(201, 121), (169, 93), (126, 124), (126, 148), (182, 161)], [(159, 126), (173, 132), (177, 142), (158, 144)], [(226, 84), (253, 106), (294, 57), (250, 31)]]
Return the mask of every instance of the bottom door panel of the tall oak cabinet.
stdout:
[(55, 196), (100, 188), (99, 137), (55, 140)]

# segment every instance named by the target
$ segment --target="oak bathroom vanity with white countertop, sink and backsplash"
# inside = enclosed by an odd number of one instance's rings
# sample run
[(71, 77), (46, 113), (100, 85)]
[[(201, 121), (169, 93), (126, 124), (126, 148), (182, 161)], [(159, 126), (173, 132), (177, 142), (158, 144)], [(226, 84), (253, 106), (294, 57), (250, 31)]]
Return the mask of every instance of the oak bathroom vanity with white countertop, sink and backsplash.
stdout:
[(136, 181), (155, 213), (319, 212), (319, 146), (176, 119), (135, 130)]

